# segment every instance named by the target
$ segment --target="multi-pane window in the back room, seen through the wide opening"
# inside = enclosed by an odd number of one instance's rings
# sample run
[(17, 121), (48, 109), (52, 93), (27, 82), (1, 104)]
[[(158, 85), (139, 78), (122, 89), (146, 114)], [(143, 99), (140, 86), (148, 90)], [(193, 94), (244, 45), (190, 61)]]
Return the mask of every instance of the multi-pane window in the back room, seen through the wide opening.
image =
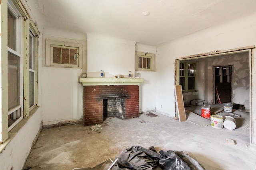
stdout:
[(180, 85), (183, 91), (196, 90), (196, 63), (180, 62)]

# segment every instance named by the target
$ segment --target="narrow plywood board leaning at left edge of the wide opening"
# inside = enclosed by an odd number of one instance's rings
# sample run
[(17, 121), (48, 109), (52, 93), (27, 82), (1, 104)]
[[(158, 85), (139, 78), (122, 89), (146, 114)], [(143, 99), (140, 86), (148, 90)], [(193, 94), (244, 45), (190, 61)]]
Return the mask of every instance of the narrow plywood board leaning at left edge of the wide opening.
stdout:
[(179, 115), (179, 121), (186, 121), (186, 113), (182, 96), (181, 85), (175, 85), (175, 97), (176, 97), (176, 107)]

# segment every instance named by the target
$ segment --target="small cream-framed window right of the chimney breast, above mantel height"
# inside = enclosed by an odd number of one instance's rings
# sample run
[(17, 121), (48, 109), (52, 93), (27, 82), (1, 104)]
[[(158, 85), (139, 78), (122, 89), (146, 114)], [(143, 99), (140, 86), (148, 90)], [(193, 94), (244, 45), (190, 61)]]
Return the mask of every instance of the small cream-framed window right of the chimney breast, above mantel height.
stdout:
[(155, 71), (155, 55), (152, 53), (135, 52), (135, 70)]

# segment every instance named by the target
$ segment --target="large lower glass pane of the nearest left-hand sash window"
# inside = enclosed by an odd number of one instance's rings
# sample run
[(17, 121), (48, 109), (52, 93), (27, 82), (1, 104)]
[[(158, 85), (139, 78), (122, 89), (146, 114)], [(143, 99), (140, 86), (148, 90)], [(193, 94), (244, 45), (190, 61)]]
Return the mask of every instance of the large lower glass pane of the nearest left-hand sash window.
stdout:
[(8, 52), (8, 110), (20, 104), (20, 57)]

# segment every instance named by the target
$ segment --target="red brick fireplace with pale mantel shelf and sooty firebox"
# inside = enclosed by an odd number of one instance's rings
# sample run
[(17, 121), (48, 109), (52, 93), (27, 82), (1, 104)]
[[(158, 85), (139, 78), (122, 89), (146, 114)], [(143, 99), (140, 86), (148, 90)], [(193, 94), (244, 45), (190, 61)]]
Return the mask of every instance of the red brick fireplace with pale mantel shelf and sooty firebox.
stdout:
[[(123, 79), (122, 82), (120, 79)], [(143, 81), (128, 78), (80, 78), (84, 86), (84, 125), (102, 123), (107, 117), (138, 117), (138, 84)]]

